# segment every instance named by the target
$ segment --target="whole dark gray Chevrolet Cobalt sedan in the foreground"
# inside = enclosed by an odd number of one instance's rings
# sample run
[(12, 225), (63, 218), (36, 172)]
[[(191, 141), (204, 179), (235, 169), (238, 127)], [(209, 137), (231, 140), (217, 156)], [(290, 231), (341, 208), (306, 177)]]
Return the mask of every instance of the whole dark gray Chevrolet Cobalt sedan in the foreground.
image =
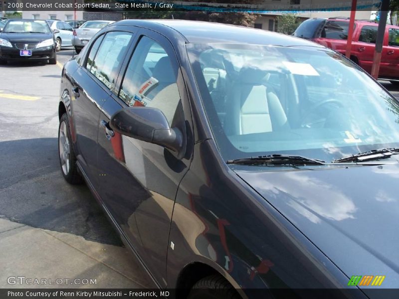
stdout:
[(342, 55), (252, 28), (124, 20), (61, 82), (63, 176), (84, 178), (160, 288), (399, 286), (399, 104)]

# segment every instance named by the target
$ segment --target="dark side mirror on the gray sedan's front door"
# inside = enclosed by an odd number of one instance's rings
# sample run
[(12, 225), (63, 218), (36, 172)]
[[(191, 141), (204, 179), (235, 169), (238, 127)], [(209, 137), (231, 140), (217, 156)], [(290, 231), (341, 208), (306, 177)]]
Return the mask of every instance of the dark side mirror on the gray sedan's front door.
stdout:
[(156, 144), (184, 154), (183, 134), (170, 128), (161, 110), (151, 107), (128, 107), (116, 112), (109, 122), (119, 134)]

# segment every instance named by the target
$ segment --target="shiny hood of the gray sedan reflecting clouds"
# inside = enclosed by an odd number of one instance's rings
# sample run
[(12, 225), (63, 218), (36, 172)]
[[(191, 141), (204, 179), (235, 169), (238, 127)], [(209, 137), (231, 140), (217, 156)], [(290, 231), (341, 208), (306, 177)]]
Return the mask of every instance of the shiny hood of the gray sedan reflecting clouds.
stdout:
[(380, 288), (399, 288), (399, 163), (263, 167), (232, 169), (349, 278), (385, 275)]

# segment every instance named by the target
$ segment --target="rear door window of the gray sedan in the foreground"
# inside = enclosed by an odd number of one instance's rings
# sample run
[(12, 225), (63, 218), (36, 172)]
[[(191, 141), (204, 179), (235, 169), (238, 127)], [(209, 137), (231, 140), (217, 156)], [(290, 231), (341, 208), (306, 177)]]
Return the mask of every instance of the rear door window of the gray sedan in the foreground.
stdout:
[(121, 31), (107, 33), (93, 60), (90, 72), (110, 90), (114, 88), (132, 36)]

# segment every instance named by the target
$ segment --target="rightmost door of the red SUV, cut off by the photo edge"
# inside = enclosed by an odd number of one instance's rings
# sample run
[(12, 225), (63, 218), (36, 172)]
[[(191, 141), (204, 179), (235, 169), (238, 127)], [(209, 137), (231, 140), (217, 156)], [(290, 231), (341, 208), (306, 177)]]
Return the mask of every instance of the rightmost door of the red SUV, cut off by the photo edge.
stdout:
[(381, 65), (384, 68), (380, 68), (380, 75), (399, 78), (399, 29), (387, 28), (385, 37), (381, 56)]

